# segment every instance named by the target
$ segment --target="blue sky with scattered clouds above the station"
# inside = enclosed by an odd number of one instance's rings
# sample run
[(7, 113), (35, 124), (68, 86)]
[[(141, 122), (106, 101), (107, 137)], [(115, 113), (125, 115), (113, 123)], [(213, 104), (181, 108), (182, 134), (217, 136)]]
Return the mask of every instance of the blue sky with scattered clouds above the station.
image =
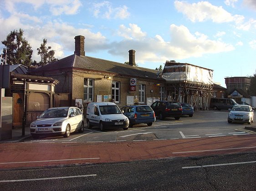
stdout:
[(61, 59), (83, 35), (86, 56), (124, 63), (133, 49), (139, 67), (189, 63), (223, 87), (256, 73), (256, 0), (1, 0), (0, 42), (19, 29), (36, 61), (43, 39)]

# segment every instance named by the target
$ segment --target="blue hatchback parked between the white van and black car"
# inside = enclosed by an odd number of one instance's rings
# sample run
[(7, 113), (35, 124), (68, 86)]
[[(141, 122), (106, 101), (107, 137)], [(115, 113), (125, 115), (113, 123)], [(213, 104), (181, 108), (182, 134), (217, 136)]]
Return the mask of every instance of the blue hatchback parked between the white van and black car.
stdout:
[(149, 105), (128, 105), (121, 108), (121, 111), (128, 117), (129, 127), (139, 123), (151, 126), (155, 122), (155, 113)]

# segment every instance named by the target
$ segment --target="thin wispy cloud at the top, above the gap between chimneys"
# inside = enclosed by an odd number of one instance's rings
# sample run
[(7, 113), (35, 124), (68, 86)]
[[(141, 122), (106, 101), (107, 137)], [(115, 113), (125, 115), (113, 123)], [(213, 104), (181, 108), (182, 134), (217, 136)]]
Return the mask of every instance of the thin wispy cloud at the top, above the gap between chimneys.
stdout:
[(122, 7), (113, 7), (109, 1), (94, 3), (93, 9), (93, 15), (96, 18), (100, 17), (104, 19), (126, 19), (130, 16), (127, 6), (123, 5)]

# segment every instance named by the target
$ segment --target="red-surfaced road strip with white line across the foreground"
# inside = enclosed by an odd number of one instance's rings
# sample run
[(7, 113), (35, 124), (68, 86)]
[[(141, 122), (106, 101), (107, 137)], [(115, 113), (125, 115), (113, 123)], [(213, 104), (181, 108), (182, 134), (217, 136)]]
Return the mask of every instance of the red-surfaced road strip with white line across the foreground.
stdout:
[(256, 135), (141, 142), (0, 144), (0, 169), (256, 152)]

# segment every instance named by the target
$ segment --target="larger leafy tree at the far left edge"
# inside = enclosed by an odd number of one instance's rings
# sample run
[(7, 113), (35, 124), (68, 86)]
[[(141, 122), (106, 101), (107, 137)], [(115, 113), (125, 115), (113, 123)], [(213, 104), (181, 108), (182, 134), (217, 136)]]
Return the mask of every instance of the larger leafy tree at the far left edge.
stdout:
[(22, 29), (13, 30), (7, 35), (6, 39), (2, 41), (5, 45), (3, 51), (3, 62), (6, 64), (22, 64), (29, 66), (32, 63), (31, 57), (33, 50), (28, 41), (23, 37), (24, 31)]

